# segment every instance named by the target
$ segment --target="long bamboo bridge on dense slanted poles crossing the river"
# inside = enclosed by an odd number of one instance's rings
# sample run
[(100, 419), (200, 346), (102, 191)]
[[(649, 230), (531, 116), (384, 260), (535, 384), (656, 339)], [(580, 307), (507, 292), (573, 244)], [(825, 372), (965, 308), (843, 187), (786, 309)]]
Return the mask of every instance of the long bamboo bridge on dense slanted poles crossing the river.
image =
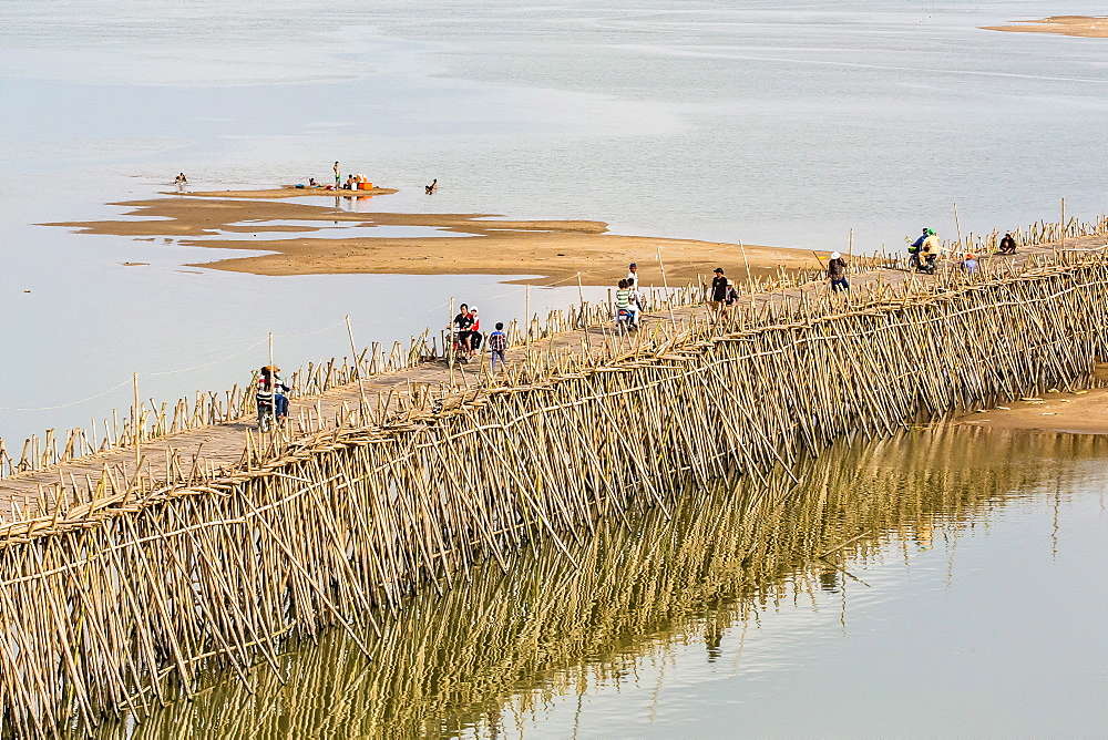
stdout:
[(633, 335), (606, 305), (555, 311), (513, 328), (496, 376), (433, 360), (424, 333), (300, 371), (273, 433), (232, 389), (0, 455), (0, 737), (143, 717), (216, 671), (279, 677), (280, 647), (327, 628), (368, 654), (359, 635), (422, 584), (465, 588), (538, 543), (573, 564), (599, 523), (665, 515), (685, 486), (770, 485), (837, 441), (1087, 382), (1108, 220), (1046, 226), (974, 275), (859, 259), (849, 294), (782, 275), (719, 316), (690, 286)]

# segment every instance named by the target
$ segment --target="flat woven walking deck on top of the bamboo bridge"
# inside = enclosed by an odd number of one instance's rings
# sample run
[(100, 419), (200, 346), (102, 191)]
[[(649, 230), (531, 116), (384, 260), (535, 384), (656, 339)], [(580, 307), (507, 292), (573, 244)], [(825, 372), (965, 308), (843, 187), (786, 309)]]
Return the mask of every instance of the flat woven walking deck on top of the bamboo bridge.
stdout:
[[(1066, 246), (1073, 248), (1098, 248), (1104, 245), (1105, 238), (1083, 237), (1079, 239), (1067, 239)], [(1053, 251), (1053, 245), (1042, 247), (1030, 247), (1020, 249), (1014, 257), (991, 256), (989, 260), (1024, 260), (1028, 256), (1036, 254), (1048, 254)], [(933, 279), (929, 276), (917, 276), (920, 279)], [(890, 285), (896, 285), (907, 279), (907, 274), (899, 269), (879, 269), (852, 276), (854, 285), (874, 282), (883, 280)], [(782, 300), (784, 295), (798, 296), (802, 290), (825, 290), (827, 282), (809, 284), (802, 288), (789, 291), (777, 291), (774, 294), (760, 294), (755, 297), (758, 301)], [(705, 307), (675, 308), (673, 319), (678, 322), (689, 321), (693, 317), (704, 316)], [(656, 322), (670, 322), (669, 311), (648, 314), (644, 317), (644, 331), (649, 331), (650, 325)], [(611, 335), (607, 327), (589, 327), (587, 332), (582, 330), (565, 331), (551, 338), (542, 340), (543, 348), (583, 350), (582, 339), (586, 338), (593, 348), (602, 347), (606, 338)], [(509, 361), (516, 359), (523, 353), (522, 348), (509, 350)], [(473, 382), (473, 364), (469, 366), (469, 381)], [(464, 371), (451, 370), (443, 362), (425, 363), (413, 368), (408, 368), (393, 373), (373, 376), (363, 381), (363, 388), (370, 408), (378, 408), (379, 403), (384, 403), (390, 399), (396, 405), (401, 395), (408, 393), (408, 389), (416, 384), (429, 384), (433, 388), (441, 386), (461, 386), (464, 382)], [(317, 433), (316, 429), (306, 429), (300, 424), (299, 411), (311, 409), (311, 415), (334, 419), (347, 408), (358, 408), (361, 391), (359, 383), (353, 382), (339, 388), (334, 388), (325, 393), (304, 398), (294, 398), (290, 404), (290, 420), (293, 424), (291, 439), (306, 438)], [(179, 460), (197, 461), (201, 469), (212, 467), (215, 470), (227, 469), (239, 463), (247, 450), (247, 431), (255, 429), (253, 418), (243, 418), (233, 422), (211, 424), (198, 429), (192, 429), (163, 436), (156, 440), (144, 442), (141, 445), (144, 458), (144, 474), (154, 479), (164, 479), (167, 472), (168, 451), (176, 452)], [(19, 502), (21, 511), (35, 508), (33, 502), (38, 501), (41, 489), (52, 490), (61, 480), (66, 487), (72, 485), (72, 481), (80, 482), (84, 487), (84, 479), (89, 476), (92, 481), (100, 479), (105, 466), (117, 465), (129, 466), (133, 471), (135, 464), (135, 451), (131, 449), (119, 449), (102, 452), (65, 463), (52, 465), (47, 469), (20, 473), (0, 480), (0, 517), (4, 521), (12, 518), (12, 503)], [(40, 487), (41, 486), (41, 487)]]

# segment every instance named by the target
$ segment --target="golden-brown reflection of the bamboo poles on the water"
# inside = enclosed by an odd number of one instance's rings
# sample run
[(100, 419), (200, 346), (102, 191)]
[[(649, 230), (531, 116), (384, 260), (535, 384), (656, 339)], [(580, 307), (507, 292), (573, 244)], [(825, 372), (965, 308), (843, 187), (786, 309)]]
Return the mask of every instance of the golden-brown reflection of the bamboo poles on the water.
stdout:
[[(794, 470), (799, 483), (779, 472), (768, 486), (687, 491), (673, 518), (605, 526), (578, 545), (579, 568), (542, 545), (507, 575), (476, 567), (464, 585), (383, 619), (369, 661), (331, 634), (281, 658), (284, 686), (263, 667), (253, 692), (227, 680), (99, 737), (495, 736), (558, 697), (634, 684), (644, 656), (699, 643), (715, 662), (728, 630), (745, 634), (768, 613), (786, 619), (820, 594), (837, 595), (845, 628), (856, 603), (847, 592), (874, 590), (854, 573), (871, 559), (907, 557), (1013, 502), (1061, 495), (1101, 476), (1106, 456), (1101, 438), (973, 429), (843, 444)], [(770, 669), (796, 661), (788, 645), (768, 660), (730, 655)]]

